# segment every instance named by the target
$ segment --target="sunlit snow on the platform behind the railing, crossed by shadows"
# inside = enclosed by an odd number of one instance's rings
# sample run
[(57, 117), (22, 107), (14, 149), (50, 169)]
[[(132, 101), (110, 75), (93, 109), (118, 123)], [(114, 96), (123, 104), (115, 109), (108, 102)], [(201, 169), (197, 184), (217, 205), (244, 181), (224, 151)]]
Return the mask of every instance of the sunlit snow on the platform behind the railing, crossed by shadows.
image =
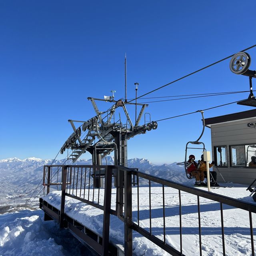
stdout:
[[(202, 188), (207, 190), (207, 188)], [(164, 188), (165, 190), (165, 222), (166, 243), (180, 250), (179, 235), (179, 197), (178, 190)], [(140, 226), (149, 231), (149, 188), (139, 189), (139, 218)], [(112, 189), (112, 208), (115, 207), (115, 189)], [(133, 221), (137, 222), (137, 188), (133, 188)], [(255, 203), (246, 188), (234, 185), (233, 188), (218, 188), (214, 193), (238, 198)], [(85, 191), (88, 196), (88, 191)], [(73, 192), (76, 194), (76, 191)], [(80, 194), (80, 191), (78, 191)], [(103, 199), (104, 190), (100, 189), (100, 198)], [(60, 209), (60, 192), (50, 192), (44, 200)], [(92, 194), (90, 194), (92, 200)], [(198, 236), (198, 208), (197, 197), (181, 192), (182, 201), (182, 244), (185, 255), (200, 255)], [(98, 202), (98, 190), (94, 194), (94, 202)], [(151, 188), (152, 204), (152, 234), (163, 240), (163, 199), (162, 187)], [(256, 205), (256, 203), (255, 203)], [(227, 256), (251, 255), (249, 214), (247, 211), (223, 205), (224, 208), (224, 232)], [(103, 212), (93, 206), (86, 205), (76, 199), (66, 197), (65, 212), (68, 216), (84, 224), (98, 234), (102, 234)], [(202, 230), (202, 254), (207, 256), (223, 255), (220, 204), (208, 199), (200, 198), (201, 230)], [(252, 214), (253, 226), (256, 227), (256, 214)], [(116, 216), (110, 218), (110, 240), (123, 247), (124, 223)], [(256, 239), (254, 239), (256, 244)], [(158, 246), (133, 232), (133, 250), (136, 255), (169, 255)]]

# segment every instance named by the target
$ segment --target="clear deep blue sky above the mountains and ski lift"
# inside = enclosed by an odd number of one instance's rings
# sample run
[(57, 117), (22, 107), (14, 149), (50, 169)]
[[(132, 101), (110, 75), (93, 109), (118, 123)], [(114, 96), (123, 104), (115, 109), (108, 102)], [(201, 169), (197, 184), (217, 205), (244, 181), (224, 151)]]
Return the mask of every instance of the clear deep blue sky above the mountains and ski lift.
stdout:
[[(114, 89), (116, 99), (124, 97), (125, 53), (128, 98), (134, 98), (134, 82), (139, 96), (256, 44), (256, 2), (245, 3), (0, 1), (0, 159), (54, 158), (72, 133), (67, 120), (95, 115), (88, 96), (102, 98)], [(256, 48), (248, 53), (255, 69)], [(226, 60), (148, 97), (248, 89), (248, 78), (230, 72)], [(146, 111), (158, 120), (247, 97), (151, 103)], [(250, 109), (233, 104), (205, 117)], [(129, 113), (134, 118), (134, 108)], [(128, 141), (128, 158), (182, 161), (201, 124), (200, 114), (159, 122), (157, 130)], [(210, 129), (202, 140), (210, 149)]]

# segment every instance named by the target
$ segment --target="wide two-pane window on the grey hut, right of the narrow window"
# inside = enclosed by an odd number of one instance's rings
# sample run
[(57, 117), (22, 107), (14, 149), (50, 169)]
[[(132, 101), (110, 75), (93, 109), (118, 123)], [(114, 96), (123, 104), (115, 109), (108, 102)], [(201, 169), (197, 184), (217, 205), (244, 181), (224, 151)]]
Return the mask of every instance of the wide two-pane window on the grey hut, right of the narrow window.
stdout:
[(232, 167), (248, 167), (252, 156), (256, 156), (254, 144), (230, 146), (230, 166)]

